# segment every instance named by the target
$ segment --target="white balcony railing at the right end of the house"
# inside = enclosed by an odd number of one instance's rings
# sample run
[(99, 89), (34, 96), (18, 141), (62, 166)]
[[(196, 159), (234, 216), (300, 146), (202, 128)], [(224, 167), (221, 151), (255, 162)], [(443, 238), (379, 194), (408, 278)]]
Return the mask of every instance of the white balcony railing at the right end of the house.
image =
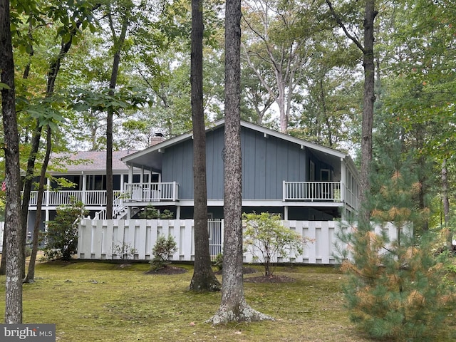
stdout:
[(342, 202), (340, 182), (285, 182), (284, 201)]

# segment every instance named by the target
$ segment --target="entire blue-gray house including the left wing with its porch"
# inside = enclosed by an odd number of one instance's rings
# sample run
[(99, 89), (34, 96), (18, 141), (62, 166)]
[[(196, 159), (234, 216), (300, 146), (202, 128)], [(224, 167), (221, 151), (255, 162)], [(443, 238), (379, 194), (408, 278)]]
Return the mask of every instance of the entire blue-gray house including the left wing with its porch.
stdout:
[[(328, 221), (358, 209), (358, 172), (346, 153), (247, 122), (241, 123), (241, 140), (244, 212)], [(192, 133), (186, 133), (159, 140), (145, 150), (113, 152), (115, 218), (135, 218), (153, 206), (169, 209), (175, 219), (192, 219), (192, 150)], [(206, 152), (208, 214), (222, 218), (224, 120), (207, 127)], [(105, 152), (78, 152), (69, 157), (72, 162), (66, 163), (66, 170), (49, 173), (76, 187), (56, 191), (56, 182), (48, 180), (43, 221), (52, 219), (58, 205), (69, 203), (71, 197), (86, 204), (91, 218), (104, 219)], [(36, 192), (30, 203), (29, 229), (34, 217)]]

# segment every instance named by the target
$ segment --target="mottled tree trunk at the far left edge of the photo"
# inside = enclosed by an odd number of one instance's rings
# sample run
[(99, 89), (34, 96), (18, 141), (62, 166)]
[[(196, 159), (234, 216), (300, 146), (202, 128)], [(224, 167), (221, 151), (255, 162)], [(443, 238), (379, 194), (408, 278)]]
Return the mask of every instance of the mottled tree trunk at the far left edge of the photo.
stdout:
[(0, 0), (0, 82), (4, 129), (6, 177), (6, 299), (5, 323), (22, 323), (21, 175), (19, 135), (14, 88), (14, 58), (11, 43), (9, 0)]

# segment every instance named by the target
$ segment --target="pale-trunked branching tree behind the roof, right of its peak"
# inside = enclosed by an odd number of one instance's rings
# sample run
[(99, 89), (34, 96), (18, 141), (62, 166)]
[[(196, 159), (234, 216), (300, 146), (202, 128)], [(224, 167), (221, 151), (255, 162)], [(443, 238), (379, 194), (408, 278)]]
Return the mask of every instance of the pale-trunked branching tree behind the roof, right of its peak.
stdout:
[[(309, 66), (318, 7), (318, 2), (258, 0), (247, 1), (244, 9), (242, 58), (267, 92), (259, 104), (264, 109), (271, 100), (276, 103), (283, 133)], [(264, 113), (256, 110), (261, 118)]]

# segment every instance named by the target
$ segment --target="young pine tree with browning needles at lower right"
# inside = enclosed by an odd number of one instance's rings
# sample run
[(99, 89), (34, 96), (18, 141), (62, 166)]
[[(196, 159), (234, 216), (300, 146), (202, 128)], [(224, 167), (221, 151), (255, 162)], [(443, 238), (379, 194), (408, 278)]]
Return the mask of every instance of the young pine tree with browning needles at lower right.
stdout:
[[(372, 179), (373, 223), (353, 224), (351, 232), (340, 234), (350, 253), (341, 254), (349, 275), (344, 291), (351, 319), (373, 338), (425, 341), (444, 323), (453, 296), (443, 281), (445, 260), (432, 254), (431, 234), (418, 236), (410, 229), (423, 232), (420, 225), (430, 212), (418, 209), (415, 168), (400, 153), (393, 155), (382, 160), (384, 172)], [(393, 239), (384, 232), (388, 222), (397, 228)]]

